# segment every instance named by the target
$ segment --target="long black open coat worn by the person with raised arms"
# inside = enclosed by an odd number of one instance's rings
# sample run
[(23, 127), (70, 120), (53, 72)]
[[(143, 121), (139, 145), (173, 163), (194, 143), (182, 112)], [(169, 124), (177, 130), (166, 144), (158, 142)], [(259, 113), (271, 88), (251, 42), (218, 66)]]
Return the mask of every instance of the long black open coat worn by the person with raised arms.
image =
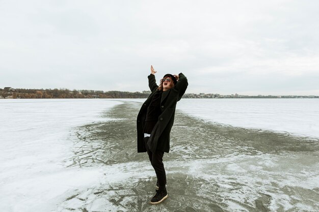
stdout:
[[(161, 99), (162, 114), (159, 115), (158, 121), (154, 126), (151, 136), (148, 139), (147, 145), (152, 152), (161, 150), (168, 153), (170, 150), (170, 132), (174, 123), (175, 107), (176, 103), (181, 99), (188, 86), (187, 78), (180, 73), (178, 75), (179, 80), (176, 85), (163, 92)], [(137, 118), (137, 133), (138, 133), (138, 153), (146, 152), (144, 144), (143, 126), (145, 124), (145, 118), (147, 108), (152, 101), (152, 98), (156, 92), (158, 85), (156, 84), (155, 76), (150, 74), (148, 76), (148, 85), (151, 89), (151, 94), (142, 105)]]

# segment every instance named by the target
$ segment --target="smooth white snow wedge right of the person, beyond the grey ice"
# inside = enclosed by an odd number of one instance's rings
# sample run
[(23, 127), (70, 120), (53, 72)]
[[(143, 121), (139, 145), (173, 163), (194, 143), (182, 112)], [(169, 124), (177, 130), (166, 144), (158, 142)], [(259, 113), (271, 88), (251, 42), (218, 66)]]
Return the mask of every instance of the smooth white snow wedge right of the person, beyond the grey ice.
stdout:
[(319, 138), (319, 99), (181, 99), (177, 109), (213, 123)]

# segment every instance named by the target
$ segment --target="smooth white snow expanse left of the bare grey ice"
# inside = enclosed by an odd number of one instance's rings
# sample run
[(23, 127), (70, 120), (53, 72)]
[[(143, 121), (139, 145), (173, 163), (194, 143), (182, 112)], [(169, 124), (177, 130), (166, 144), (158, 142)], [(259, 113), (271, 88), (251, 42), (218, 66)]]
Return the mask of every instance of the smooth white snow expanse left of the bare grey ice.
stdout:
[(98, 183), (96, 168), (65, 168), (74, 127), (107, 122), (113, 100), (1, 100), (0, 205), (3, 211), (54, 211), (69, 189)]

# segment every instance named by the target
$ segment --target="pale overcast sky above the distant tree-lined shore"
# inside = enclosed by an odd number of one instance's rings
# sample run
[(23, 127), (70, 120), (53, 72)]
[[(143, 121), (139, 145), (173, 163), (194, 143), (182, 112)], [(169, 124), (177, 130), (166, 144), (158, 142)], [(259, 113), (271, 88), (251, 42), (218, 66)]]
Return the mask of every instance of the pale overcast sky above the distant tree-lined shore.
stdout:
[(319, 1), (0, 0), (0, 87), (319, 95)]

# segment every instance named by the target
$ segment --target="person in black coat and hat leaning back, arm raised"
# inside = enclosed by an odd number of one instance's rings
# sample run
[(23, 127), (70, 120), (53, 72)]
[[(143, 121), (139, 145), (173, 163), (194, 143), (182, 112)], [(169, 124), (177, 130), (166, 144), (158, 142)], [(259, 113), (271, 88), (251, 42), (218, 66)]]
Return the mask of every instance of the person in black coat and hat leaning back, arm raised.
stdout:
[(151, 94), (143, 103), (137, 117), (137, 150), (138, 153), (147, 152), (157, 177), (158, 190), (150, 200), (151, 204), (161, 203), (168, 197), (163, 156), (170, 150), (170, 132), (176, 103), (188, 86), (188, 80), (182, 73), (165, 74), (157, 85), (155, 73), (151, 66), (151, 74), (148, 76)]

